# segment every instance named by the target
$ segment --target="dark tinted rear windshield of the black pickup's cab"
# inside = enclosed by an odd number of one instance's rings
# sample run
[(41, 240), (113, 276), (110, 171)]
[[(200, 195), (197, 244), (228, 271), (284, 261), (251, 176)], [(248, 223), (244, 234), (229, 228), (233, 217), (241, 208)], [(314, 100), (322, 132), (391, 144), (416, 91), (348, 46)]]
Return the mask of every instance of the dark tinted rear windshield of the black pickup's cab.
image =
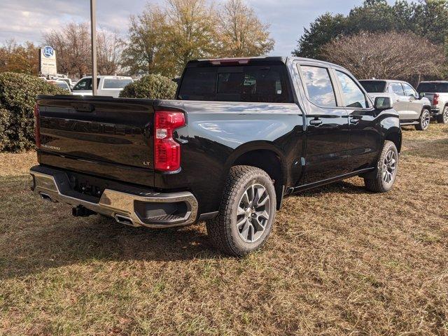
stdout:
[(292, 103), (286, 66), (215, 66), (187, 68), (180, 100)]

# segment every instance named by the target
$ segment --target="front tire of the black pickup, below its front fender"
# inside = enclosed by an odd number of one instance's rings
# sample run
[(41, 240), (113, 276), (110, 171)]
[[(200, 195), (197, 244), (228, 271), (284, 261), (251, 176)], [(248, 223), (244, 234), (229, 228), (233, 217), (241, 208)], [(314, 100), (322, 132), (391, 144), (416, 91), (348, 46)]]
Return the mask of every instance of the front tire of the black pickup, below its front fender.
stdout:
[[(388, 155), (391, 155), (391, 157), (393, 157), (393, 160), (395, 160), (392, 174), (391, 174), (391, 167), (386, 163), (388, 162)], [(395, 144), (393, 144), (392, 141), (386, 140), (384, 141), (383, 151), (381, 151), (381, 155), (379, 155), (376, 174), (374, 178), (364, 179), (365, 188), (367, 188), (367, 190), (373, 191), (374, 193), (387, 193), (389, 190), (392, 189), (393, 183), (395, 183), (397, 172), (398, 172), (397, 148), (395, 147)], [(388, 175), (387, 178), (390, 179), (390, 181), (386, 179), (386, 174)]]

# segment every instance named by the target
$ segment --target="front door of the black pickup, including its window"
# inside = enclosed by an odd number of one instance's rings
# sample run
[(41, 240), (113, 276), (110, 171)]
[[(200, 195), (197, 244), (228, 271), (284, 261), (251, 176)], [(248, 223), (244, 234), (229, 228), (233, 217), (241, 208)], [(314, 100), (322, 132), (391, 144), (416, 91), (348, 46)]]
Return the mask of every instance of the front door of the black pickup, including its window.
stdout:
[(339, 87), (341, 105), (349, 115), (349, 172), (373, 167), (381, 149), (381, 132), (376, 120), (379, 113), (351, 75), (336, 69), (333, 71)]

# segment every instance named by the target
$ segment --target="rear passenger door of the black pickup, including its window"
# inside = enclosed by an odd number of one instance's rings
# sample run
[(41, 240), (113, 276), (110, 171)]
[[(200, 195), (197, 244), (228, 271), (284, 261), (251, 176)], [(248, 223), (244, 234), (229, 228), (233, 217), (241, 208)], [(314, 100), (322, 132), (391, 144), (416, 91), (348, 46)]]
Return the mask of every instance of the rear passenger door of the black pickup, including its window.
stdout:
[(300, 64), (307, 97), (307, 144), (302, 184), (315, 183), (347, 172), (348, 113), (337, 106), (329, 69)]

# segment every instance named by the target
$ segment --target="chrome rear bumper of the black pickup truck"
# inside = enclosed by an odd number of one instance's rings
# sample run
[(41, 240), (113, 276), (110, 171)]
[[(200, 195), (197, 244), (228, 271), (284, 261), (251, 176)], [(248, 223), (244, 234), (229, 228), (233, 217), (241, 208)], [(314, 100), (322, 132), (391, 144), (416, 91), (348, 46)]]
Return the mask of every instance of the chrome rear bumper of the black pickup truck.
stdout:
[[(73, 188), (75, 177), (49, 167), (30, 169), (31, 190), (44, 200), (85, 207), (115, 218), (119, 223), (148, 228), (168, 228), (192, 224), (197, 218), (197, 200), (192, 193), (158, 193), (155, 190), (113, 183), (99, 197), (85, 195)], [(78, 174), (79, 175), (79, 174)]]

